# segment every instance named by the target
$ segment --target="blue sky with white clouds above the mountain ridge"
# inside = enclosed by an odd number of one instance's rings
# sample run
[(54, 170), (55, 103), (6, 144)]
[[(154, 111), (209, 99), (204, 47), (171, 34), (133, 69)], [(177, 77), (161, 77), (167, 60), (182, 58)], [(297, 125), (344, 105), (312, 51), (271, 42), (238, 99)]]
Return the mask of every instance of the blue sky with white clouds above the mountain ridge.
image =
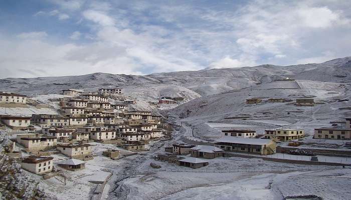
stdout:
[(0, 78), (351, 56), (349, 0), (0, 0)]

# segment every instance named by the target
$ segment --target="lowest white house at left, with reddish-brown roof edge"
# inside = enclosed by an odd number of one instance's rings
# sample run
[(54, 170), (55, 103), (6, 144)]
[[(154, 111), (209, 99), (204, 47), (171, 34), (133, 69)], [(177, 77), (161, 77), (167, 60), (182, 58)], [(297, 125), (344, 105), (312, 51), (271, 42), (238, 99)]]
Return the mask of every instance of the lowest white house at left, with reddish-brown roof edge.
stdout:
[(22, 168), (36, 174), (45, 174), (53, 170), (53, 157), (30, 155), (21, 162)]

